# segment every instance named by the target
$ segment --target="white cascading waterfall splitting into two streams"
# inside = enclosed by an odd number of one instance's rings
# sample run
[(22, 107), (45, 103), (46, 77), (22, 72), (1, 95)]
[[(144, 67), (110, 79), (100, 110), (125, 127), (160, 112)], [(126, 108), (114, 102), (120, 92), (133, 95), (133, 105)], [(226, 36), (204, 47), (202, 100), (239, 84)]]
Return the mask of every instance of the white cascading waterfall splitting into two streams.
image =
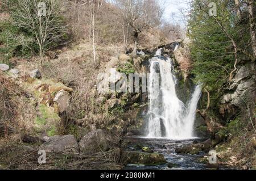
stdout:
[(172, 60), (171, 58), (163, 60), (159, 57), (161, 53), (162, 49), (158, 49), (155, 57), (151, 59), (147, 137), (166, 137), (174, 140), (193, 138), (196, 106), (201, 96), (200, 86), (196, 86), (186, 107), (176, 95)]

